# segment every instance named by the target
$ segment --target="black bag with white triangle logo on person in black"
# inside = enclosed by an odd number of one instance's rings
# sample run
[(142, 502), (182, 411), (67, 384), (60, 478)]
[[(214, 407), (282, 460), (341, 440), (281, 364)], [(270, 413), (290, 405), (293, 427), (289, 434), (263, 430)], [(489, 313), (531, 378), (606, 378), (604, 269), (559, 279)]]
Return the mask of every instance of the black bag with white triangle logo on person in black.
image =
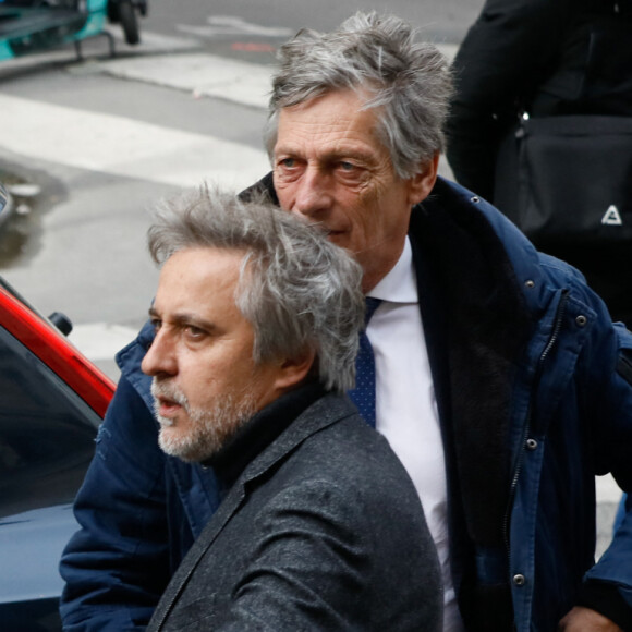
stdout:
[(540, 247), (632, 241), (632, 118), (523, 118), (500, 145), (494, 203)]

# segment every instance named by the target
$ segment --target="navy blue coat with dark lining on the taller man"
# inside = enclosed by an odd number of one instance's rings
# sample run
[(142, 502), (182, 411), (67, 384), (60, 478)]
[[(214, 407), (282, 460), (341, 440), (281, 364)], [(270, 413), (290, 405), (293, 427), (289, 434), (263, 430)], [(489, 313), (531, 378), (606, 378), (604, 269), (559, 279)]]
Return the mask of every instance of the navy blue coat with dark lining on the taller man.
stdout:
[[(410, 236), (470, 628), (484, 616), (476, 604), (503, 591), (519, 632), (552, 632), (578, 603), (630, 624), (632, 516), (595, 566), (593, 556), (594, 476), (632, 487), (632, 336), (576, 270), (458, 185), (437, 182)], [(72, 632), (146, 624), (219, 505), (210, 470), (156, 445), (139, 372), (149, 341), (146, 327), (119, 354), (120, 385), (76, 501), (82, 528), (61, 563)]]

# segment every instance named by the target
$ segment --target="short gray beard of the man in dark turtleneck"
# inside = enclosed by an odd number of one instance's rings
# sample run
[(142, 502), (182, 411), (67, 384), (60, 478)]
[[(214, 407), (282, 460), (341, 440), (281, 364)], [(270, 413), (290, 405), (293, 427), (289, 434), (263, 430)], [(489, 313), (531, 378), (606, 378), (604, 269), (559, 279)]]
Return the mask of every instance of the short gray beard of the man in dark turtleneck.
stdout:
[[(178, 457), (187, 463), (206, 461), (217, 453), (256, 413), (253, 398), (245, 392), (220, 394), (209, 409), (194, 409), (184, 393), (168, 382), (151, 381), (151, 394), (161, 394), (178, 402), (189, 415), (190, 428), (186, 434), (171, 433), (172, 420), (158, 414), (158, 402), (154, 408), (160, 424), (158, 445), (170, 457)], [(177, 425), (178, 422), (175, 422)]]

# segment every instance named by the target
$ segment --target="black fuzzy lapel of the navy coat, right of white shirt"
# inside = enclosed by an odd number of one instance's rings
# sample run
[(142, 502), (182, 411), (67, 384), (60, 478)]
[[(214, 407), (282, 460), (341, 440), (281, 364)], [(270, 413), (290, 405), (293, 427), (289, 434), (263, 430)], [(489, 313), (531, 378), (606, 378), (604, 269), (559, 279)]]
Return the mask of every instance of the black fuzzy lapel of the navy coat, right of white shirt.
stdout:
[(448, 414), (442, 423), (452, 437), (467, 533), (478, 546), (502, 546), (511, 393), (533, 324), (503, 244), (474, 204), (438, 181), (414, 209), (411, 232), (445, 316), (434, 364), (448, 376), (438, 397), (448, 399), (440, 410)]

